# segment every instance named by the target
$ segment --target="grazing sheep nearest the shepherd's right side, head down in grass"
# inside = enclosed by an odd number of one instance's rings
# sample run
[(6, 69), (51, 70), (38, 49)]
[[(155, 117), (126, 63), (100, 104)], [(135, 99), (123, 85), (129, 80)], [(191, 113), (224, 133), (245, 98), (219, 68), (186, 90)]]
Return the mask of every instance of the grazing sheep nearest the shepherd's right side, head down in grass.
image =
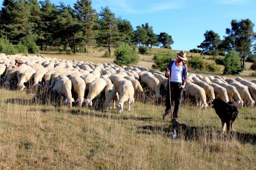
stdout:
[[(206, 95), (204, 89), (194, 83), (186, 85), (185, 96), (193, 96), (196, 99), (196, 107), (206, 108), (209, 107), (206, 103)], [(199, 101), (199, 102), (198, 102)]]

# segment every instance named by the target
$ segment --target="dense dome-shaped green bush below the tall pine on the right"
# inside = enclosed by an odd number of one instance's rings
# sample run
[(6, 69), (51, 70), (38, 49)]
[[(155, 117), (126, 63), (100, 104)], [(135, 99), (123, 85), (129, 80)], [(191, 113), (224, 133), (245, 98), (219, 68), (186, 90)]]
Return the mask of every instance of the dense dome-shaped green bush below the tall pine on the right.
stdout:
[(244, 69), (241, 68), (240, 57), (236, 51), (230, 51), (224, 58), (224, 70), (223, 74), (239, 74)]

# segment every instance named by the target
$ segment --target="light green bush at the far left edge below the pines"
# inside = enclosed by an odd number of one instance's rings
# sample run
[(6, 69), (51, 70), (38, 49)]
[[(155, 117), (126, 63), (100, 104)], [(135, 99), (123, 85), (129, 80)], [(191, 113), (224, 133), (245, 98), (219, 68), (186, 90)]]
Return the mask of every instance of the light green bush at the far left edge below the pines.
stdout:
[(7, 38), (0, 38), (0, 53), (4, 53), (5, 55), (14, 55), (19, 53), (19, 51)]

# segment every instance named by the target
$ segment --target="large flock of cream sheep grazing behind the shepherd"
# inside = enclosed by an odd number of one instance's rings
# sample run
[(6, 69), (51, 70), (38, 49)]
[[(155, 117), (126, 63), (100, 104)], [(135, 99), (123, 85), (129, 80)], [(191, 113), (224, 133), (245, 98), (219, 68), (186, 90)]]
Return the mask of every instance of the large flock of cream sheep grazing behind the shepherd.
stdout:
[[(23, 64), (18, 67), (15, 60)], [(83, 103), (86, 107), (92, 107), (92, 101), (96, 100), (96, 108), (98, 108), (100, 98), (105, 96), (104, 109), (112, 108), (112, 101), (118, 113), (123, 112), (124, 102), (128, 102), (130, 111), (135, 94), (145, 98), (141, 85), (147, 86), (154, 92), (153, 98), (160, 99), (167, 90), (168, 82), (163, 72), (151, 68), (59, 60), (43, 55), (0, 54), (0, 76), (1, 84), (15, 85), (19, 90), (24, 90), (26, 86), (34, 87), (36, 90), (40, 86), (52, 89), (54, 94), (65, 96), (65, 104), (68, 107), (72, 107), (73, 102), (77, 103), (78, 107), (82, 107)], [(194, 97), (200, 108), (208, 107), (215, 97), (226, 102), (233, 99), (239, 107), (243, 107), (244, 103), (254, 106), (255, 82), (256, 80), (249, 82), (240, 77), (234, 80), (219, 76), (203, 77), (189, 74), (185, 97)]]

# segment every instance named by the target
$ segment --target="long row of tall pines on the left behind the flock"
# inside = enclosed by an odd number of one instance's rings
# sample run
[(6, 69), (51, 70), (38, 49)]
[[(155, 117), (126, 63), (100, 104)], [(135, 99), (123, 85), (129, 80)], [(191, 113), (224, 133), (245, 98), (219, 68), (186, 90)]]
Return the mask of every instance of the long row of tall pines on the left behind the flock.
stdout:
[(170, 48), (172, 36), (165, 32), (157, 35), (148, 23), (136, 26), (116, 18), (108, 6), (100, 13), (92, 8), (92, 1), (77, 0), (73, 7), (50, 0), (3, 0), (0, 11), (0, 37), (12, 44), (36, 44), (41, 50), (48, 46), (87, 52), (87, 47), (108, 47), (124, 42), (131, 45)]

